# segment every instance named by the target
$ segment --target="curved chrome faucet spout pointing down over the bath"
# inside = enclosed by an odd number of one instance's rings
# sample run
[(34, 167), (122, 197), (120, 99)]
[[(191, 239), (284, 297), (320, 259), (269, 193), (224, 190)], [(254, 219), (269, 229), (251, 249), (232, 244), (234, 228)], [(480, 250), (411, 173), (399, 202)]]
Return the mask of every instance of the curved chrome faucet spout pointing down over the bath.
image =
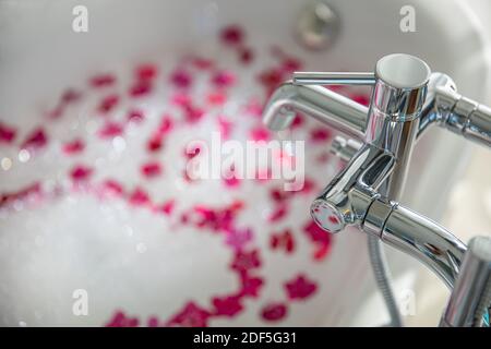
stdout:
[(263, 122), (273, 131), (287, 129), (297, 111), (303, 112), (346, 135), (363, 140), (368, 108), (322, 86), (279, 86), (264, 108)]

